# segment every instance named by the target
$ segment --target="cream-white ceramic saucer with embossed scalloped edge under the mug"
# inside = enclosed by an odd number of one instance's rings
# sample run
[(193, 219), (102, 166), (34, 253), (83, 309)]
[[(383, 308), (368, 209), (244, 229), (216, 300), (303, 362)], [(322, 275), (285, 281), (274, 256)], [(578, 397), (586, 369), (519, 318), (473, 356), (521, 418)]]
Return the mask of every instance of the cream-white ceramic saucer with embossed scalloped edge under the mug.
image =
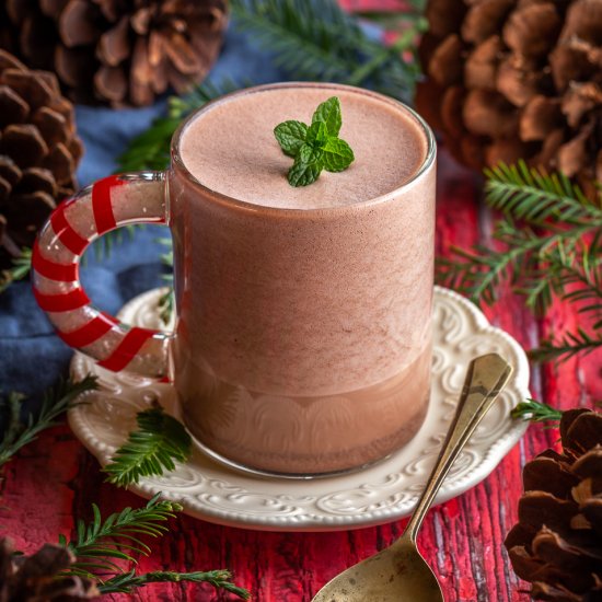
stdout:
[[(162, 290), (137, 297), (119, 317), (138, 326), (161, 327), (157, 305)], [(409, 514), (435, 464), (468, 361), (497, 351), (514, 372), (500, 400), (452, 467), (437, 502), (451, 499), (483, 481), (526, 429), (510, 409), (529, 397), (529, 364), (519, 344), (490, 326), (481, 311), (459, 294), (435, 291), (435, 355), (432, 393), (422, 428), (403, 450), (363, 471), (313, 481), (258, 477), (230, 470), (196, 450), (186, 464), (162, 477), (144, 478), (137, 494), (158, 491), (200, 519), (268, 531), (334, 531), (382, 524)], [(99, 459), (108, 462), (127, 433), (136, 428), (136, 413), (159, 400), (177, 415), (173, 387), (124, 373), (108, 372), (76, 354), (72, 374), (92, 372), (102, 389), (86, 393), (86, 404), (69, 413), (76, 436)]]

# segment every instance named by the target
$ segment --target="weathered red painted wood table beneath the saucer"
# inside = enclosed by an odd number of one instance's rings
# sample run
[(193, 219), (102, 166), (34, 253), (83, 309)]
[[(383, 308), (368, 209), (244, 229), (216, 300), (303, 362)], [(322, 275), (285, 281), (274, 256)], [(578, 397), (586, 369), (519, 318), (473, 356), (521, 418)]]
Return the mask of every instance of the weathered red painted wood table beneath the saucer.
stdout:
[[(438, 252), (450, 244), (466, 246), (486, 240), (491, 216), (479, 205), (479, 180), (441, 153), (438, 188)], [(489, 319), (511, 333), (525, 348), (549, 333), (575, 325), (570, 308), (557, 305), (544, 321), (535, 321), (519, 300), (505, 298)], [(602, 357), (575, 358), (559, 367), (534, 368), (535, 398), (559, 408), (592, 407), (602, 398)], [(445, 600), (525, 601), (503, 549), (506, 533), (517, 519), (521, 467), (526, 460), (554, 445), (556, 430), (532, 426), (493, 474), (456, 499), (435, 508), (419, 537), (419, 547), (439, 576)], [(70, 534), (74, 518), (89, 519), (91, 503), (103, 514), (142, 500), (103, 483), (96, 461), (67, 426), (45, 432), (7, 465), (0, 484), (0, 523), (20, 549), (33, 552), (42, 543)], [(398, 536), (405, 520), (383, 526), (335, 533), (269, 533), (225, 528), (182, 516), (171, 533), (153, 543), (153, 554), (139, 569), (200, 570), (229, 568), (236, 583), (261, 602), (305, 602), (349, 565), (375, 553)], [(211, 587), (155, 584), (116, 601), (233, 600)]]

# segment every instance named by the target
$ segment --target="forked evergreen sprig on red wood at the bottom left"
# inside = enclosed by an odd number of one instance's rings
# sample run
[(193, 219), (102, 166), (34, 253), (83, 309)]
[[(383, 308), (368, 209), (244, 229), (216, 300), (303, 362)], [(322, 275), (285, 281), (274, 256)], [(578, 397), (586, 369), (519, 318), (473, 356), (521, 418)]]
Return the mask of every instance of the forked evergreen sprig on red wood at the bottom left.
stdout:
[(93, 503), (93, 518), (90, 523), (77, 522), (77, 537), (68, 541), (59, 536), (60, 545), (66, 546), (76, 562), (62, 576), (80, 576), (92, 579), (103, 594), (130, 593), (134, 589), (159, 582), (208, 582), (216, 589), (223, 589), (247, 600), (248, 591), (230, 581), (228, 570), (176, 572), (171, 570), (136, 575), (136, 570), (124, 570), (117, 562), (137, 564), (136, 555), (148, 556), (150, 547), (143, 536), (161, 537), (169, 532), (166, 522), (182, 510), (180, 503), (160, 499), (155, 495), (142, 508), (125, 508), (103, 520), (99, 507)]

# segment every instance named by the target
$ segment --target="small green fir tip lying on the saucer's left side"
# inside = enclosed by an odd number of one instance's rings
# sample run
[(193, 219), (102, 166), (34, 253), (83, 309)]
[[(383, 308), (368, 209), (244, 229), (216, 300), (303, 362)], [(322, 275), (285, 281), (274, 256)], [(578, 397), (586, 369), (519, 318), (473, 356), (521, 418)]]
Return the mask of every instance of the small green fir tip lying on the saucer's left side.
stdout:
[(138, 483), (141, 476), (161, 475), (175, 468), (174, 461), (186, 462), (192, 439), (184, 426), (155, 404), (136, 416), (138, 429), (128, 436), (103, 470), (107, 481), (118, 487)]

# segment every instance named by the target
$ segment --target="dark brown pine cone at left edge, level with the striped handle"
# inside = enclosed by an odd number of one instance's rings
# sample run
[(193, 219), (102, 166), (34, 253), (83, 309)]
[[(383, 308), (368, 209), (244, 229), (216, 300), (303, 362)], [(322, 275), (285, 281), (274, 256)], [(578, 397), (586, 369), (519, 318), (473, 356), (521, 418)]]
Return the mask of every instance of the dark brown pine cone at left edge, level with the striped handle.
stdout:
[(0, 269), (73, 193), (82, 152), (73, 105), (56, 77), (0, 50)]

